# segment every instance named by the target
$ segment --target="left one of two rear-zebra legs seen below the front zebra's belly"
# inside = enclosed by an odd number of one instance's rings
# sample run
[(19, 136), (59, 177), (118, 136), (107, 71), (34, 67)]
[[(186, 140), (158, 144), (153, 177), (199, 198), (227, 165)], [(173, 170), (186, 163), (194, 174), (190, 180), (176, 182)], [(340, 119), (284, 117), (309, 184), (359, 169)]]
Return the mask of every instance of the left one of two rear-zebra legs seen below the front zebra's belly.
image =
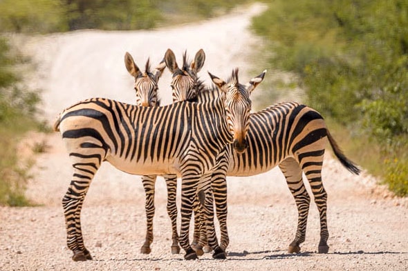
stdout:
[(146, 202), (146, 239), (140, 248), (140, 253), (149, 254), (151, 252), (150, 244), (153, 242), (153, 217), (154, 217), (154, 188), (156, 185), (156, 175), (142, 176), (143, 188), (145, 188)]

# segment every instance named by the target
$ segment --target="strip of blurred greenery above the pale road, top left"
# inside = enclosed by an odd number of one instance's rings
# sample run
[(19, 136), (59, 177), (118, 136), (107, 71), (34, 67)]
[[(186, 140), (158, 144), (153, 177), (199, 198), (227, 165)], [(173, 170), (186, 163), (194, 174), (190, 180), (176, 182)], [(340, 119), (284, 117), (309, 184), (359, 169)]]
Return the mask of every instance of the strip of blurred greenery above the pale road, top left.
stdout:
[(248, 0), (2, 0), (0, 32), (137, 30), (196, 21)]

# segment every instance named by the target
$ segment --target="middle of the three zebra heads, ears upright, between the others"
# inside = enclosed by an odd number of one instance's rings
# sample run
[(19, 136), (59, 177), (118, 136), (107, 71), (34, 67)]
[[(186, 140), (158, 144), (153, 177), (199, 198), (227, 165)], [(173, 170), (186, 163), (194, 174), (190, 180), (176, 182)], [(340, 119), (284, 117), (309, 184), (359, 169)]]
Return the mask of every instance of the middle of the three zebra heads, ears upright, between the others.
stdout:
[(187, 53), (183, 54), (183, 68), (178, 68), (174, 52), (170, 49), (165, 54), (165, 62), (169, 68), (173, 79), (171, 79), (171, 89), (173, 102), (195, 101), (198, 92), (203, 88), (203, 83), (198, 80), (198, 72), (203, 68), (205, 53), (203, 49), (196, 52), (194, 61), (187, 63)]

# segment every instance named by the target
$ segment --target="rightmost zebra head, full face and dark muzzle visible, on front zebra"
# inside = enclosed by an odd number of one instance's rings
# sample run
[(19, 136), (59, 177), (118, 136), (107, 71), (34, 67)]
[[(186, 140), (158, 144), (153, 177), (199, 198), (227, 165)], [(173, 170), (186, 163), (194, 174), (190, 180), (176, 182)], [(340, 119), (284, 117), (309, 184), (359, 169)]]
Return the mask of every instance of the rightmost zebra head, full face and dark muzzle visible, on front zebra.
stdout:
[(250, 111), (252, 102), (250, 100), (250, 93), (263, 80), (266, 70), (257, 77), (250, 80), (247, 85), (242, 85), (238, 80), (238, 68), (232, 71), (232, 75), (228, 83), (223, 79), (214, 76), (210, 72), (210, 77), (217, 88), (225, 94), (224, 106), (226, 121), (230, 133), (232, 134), (232, 146), (234, 149), (242, 153), (248, 147), (245, 139), (250, 126)]

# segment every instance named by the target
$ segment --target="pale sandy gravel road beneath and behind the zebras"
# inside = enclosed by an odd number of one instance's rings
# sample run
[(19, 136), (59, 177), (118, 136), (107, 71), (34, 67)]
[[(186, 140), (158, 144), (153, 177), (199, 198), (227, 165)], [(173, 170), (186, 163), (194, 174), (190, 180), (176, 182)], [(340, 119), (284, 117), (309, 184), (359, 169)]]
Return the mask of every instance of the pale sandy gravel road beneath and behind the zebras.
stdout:
[[(49, 123), (66, 106), (89, 97), (133, 103), (133, 80), (124, 68), (129, 51), (142, 68), (147, 57), (158, 63), (167, 48), (180, 59), (203, 48), (206, 70), (227, 77), (241, 69), (241, 80), (260, 73), (254, 50), (261, 40), (248, 30), (254, 5), (219, 19), (153, 31), (78, 31), (24, 39), (37, 61), (28, 83), (41, 88)], [(164, 103), (171, 101), (169, 72), (160, 80)], [(270, 86), (263, 86), (268, 91)], [(274, 101), (270, 101), (274, 103)], [(24, 144), (46, 140), (37, 157), (27, 195), (37, 207), (0, 208), (0, 270), (407, 270), (408, 204), (393, 197), (369, 174), (353, 176), (327, 152), (323, 179), (328, 192), (328, 254), (317, 254), (319, 220), (312, 203), (302, 253), (287, 254), (297, 226), (297, 209), (277, 168), (248, 178), (228, 178), (228, 259), (205, 254), (197, 261), (171, 254), (171, 228), (165, 210), (163, 179), (156, 184), (154, 243), (140, 254), (145, 237), (145, 194), (140, 177), (105, 163), (96, 175), (82, 211), (82, 228), (93, 261), (75, 263), (66, 248), (61, 199), (71, 177), (59, 134), (35, 136)]]

